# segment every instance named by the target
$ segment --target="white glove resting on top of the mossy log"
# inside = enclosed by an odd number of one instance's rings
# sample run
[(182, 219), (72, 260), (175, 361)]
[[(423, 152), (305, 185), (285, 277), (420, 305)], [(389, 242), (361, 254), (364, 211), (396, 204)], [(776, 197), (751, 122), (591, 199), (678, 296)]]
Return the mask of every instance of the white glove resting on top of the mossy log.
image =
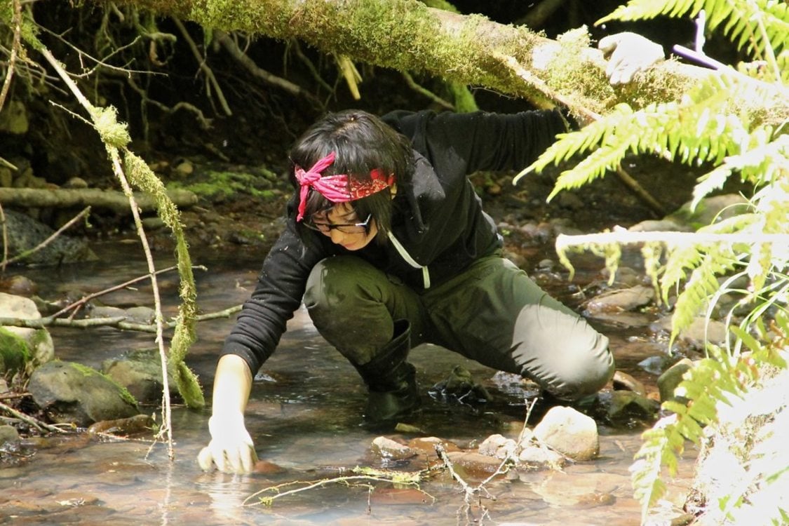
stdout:
[(605, 36), (597, 47), (608, 57), (605, 74), (611, 84), (627, 84), (636, 73), (665, 58), (660, 44), (630, 32)]

